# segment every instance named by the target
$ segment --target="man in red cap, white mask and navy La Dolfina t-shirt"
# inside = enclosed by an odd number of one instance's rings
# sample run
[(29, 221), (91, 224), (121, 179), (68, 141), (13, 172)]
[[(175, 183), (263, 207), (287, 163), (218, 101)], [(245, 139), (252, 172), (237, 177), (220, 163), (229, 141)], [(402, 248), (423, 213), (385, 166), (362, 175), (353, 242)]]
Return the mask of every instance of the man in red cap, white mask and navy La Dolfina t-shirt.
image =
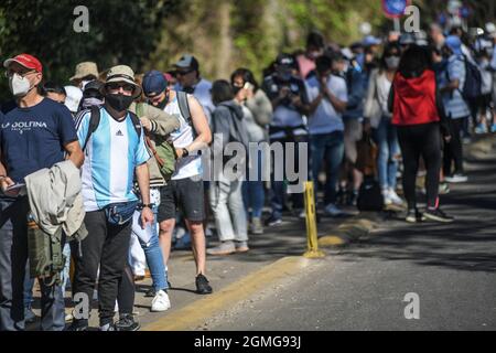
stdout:
[[(55, 163), (71, 160), (80, 168), (84, 154), (68, 109), (40, 95), (41, 62), (20, 54), (3, 63), (12, 104), (0, 114), (0, 331), (24, 330), (23, 290), (28, 261), (28, 196), (19, 189), (24, 178)], [(41, 330), (62, 331), (65, 325), (61, 286), (41, 285)]]

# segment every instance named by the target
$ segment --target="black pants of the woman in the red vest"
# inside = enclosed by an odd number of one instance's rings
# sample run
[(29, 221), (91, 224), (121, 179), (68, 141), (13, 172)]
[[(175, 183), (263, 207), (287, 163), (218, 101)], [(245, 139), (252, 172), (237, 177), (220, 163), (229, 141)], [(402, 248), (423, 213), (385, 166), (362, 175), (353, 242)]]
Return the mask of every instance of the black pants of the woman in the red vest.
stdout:
[(441, 132), (439, 124), (398, 127), (398, 140), (403, 157), (403, 192), (408, 208), (417, 207), (416, 180), (419, 159), (427, 169), (425, 190), (428, 206), (438, 206), (439, 173), (441, 171)]

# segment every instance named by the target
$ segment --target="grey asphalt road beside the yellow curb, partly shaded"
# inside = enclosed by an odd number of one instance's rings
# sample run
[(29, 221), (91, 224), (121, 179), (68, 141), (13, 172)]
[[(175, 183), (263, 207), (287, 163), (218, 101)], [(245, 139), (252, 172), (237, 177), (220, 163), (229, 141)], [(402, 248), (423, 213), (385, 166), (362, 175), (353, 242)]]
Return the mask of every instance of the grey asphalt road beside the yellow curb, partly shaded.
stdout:
[[(496, 153), (452, 185), (449, 225), (398, 218), (214, 318), (208, 330), (496, 330)], [(407, 293), (419, 319), (407, 319)], [(410, 299), (411, 300), (411, 299)], [(408, 312), (412, 312), (408, 310)]]

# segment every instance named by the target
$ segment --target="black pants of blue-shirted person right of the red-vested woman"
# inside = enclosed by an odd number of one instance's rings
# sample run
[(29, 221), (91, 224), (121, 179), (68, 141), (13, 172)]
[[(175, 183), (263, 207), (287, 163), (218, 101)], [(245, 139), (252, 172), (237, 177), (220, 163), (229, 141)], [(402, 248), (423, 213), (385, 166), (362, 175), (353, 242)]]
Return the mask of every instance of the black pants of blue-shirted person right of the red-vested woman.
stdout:
[(461, 133), (463, 131), (464, 121), (467, 119), (468, 118), (450, 119), (451, 141), (446, 143), (444, 148), (444, 175), (453, 174), (453, 162), (454, 174), (463, 173), (463, 145)]

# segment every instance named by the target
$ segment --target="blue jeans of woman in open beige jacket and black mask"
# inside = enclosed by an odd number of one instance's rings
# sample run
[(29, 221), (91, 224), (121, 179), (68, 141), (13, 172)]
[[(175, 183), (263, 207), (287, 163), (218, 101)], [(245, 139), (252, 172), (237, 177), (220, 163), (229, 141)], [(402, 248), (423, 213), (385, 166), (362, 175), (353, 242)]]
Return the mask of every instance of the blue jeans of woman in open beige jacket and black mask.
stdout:
[(374, 129), (374, 140), (379, 153), (377, 157), (377, 170), (379, 183), (382, 189), (396, 189), (396, 173), (398, 172), (399, 145), (396, 127), (391, 119), (382, 117), (377, 129)]

